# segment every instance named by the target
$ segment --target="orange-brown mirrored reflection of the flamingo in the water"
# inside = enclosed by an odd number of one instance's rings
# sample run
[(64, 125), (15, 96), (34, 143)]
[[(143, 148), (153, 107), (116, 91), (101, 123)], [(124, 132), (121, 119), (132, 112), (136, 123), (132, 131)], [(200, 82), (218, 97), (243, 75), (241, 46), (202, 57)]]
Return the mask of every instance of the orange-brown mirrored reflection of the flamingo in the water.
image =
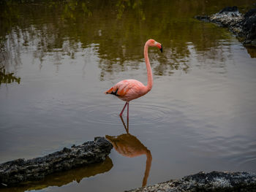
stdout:
[(150, 150), (145, 147), (139, 139), (137, 139), (132, 134), (129, 134), (129, 122), (127, 121), (127, 126), (124, 123), (123, 118), (120, 116), (121, 121), (124, 125), (126, 134), (121, 134), (119, 136), (108, 136), (106, 138), (111, 142), (115, 150), (121, 155), (129, 158), (137, 157), (140, 155), (146, 155), (146, 169), (143, 177), (142, 186), (144, 187), (148, 180), (148, 175), (151, 168), (152, 155)]

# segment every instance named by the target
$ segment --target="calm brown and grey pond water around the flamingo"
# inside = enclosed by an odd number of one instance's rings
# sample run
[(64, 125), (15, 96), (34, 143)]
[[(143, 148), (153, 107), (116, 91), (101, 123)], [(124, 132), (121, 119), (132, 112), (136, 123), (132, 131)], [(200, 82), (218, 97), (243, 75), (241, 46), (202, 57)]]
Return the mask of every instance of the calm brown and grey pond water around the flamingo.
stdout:
[[(256, 172), (255, 49), (193, 19), (253, 3), (1, 3), (0, 163), (105, 135), (123, 147), (9, 191), (124, 191), (200, 171)], [(164, 52), (149, 50), (153, 89), (130, 102), (127, 134), (124, 102), (103, 92), (123, 79), (146, 83), (150, 38)]]

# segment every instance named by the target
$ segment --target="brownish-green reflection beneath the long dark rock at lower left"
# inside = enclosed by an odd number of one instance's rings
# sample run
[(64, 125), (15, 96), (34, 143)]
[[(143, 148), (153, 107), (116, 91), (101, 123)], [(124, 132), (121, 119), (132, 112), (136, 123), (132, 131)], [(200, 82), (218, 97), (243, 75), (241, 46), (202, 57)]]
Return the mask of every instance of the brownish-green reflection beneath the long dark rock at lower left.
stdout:
[(50, 186), (61, 187), (62, 185), (67, 185), (68, 183), (72, 183), (73, 181), (80, 183), (80, 181), (83, 180), (83, 178), (92, 177), (96, 174), (108, 172), (110, 169), (112, 169), (112, 167), (113, 162), (109, 157), (107, 157), (105, 161), (103, 161), (102, 163), (91, 164), (89, 166), (82, 166), (75, 169), (71, 169), (69, 171), (49, 174), (48, 176), (45, 177), (44, 180), (22, 183), (17, 187), (0, 188), (0, 191), (21, 192), (40, 190), (43, 188), (48, 188)]

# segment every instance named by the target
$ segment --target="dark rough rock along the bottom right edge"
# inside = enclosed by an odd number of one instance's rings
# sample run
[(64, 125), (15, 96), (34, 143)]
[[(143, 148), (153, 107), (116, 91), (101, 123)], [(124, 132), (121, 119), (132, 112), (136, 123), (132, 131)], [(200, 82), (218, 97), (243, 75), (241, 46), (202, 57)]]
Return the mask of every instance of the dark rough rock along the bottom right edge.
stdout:
[(170, 180), (165, 183), (136, 188), (127, 192), (151, 191), (256, 191), (256, 174), (248, 172), (199, 172), (183, 177), (181, 180)]

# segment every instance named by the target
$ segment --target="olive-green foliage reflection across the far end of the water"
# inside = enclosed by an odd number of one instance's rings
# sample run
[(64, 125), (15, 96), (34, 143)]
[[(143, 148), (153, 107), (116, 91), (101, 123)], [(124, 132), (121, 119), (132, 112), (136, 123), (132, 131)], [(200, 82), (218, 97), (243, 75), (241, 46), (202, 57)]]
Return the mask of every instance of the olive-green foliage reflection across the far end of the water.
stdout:
[(152, 50), (154, 74), (171, 75), (177, 70), (187, 73), (191, 49), (201, 55), (202, 63), (208, 58), (225, 61), (229, 50), (219, 46), (232, 38), (226, 29), (193, 17), (218, 12), (227, 5), (236, 5), (244, 12), (253, 2), (2, 1), (0, 43), (4, 51), (0, 58), (5, 59), (1, 63), (7, 68), (19, 66), (21, 50), (31, 50), (42, 65), (48, 55), (58, 53), (61, 56), (56, 56), (57, 60), (65, 56), (75, 59), (78, 52), (93, 45), (99, 57), (99, 78), (105, 80), (113, 72), (126, 70), (127, 64), (138, 69), (144, 43), (154, 38), (165, 47), (161, 57)]

